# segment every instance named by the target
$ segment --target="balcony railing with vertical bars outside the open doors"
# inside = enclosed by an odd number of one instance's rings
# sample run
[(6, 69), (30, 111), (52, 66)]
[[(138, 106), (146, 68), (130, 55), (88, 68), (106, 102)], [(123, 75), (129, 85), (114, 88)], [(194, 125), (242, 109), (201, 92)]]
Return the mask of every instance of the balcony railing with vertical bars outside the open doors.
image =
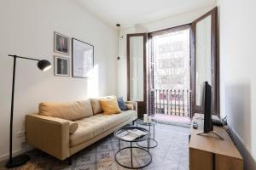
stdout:
[(191, 117), (191, 91), (188, 89), (154, 89), (154, 113)]

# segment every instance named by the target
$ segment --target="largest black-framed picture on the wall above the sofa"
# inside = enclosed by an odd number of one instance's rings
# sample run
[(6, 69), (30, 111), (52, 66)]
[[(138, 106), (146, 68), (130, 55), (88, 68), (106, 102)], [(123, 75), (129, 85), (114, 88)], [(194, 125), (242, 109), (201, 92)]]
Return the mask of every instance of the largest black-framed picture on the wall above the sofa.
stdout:
[(94, 65), (94, 47), (72, 38), (72, 77), (88, 78)]

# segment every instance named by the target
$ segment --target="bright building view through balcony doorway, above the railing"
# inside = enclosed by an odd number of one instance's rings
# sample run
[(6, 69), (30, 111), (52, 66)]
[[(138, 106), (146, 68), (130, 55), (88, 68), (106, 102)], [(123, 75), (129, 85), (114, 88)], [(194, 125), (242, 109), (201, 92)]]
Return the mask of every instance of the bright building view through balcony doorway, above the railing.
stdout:
[(154, 88), (189, 89), (189, 27), (152, 37)]

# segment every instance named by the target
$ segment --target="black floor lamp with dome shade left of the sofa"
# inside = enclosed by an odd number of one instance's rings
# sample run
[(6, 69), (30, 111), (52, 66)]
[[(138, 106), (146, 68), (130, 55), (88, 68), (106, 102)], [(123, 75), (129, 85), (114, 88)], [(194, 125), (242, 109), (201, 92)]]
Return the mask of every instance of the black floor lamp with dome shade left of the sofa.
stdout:
[(11, 114), (10, 114), (10, 126), (9, 126), (9, 161), (6, 162), (6, 167), (19, 167), (30, 160), (30, 157), (27, 155), (16, 156), (13, 158), (13, 116), (14, 116), (14, 99), (15, 99), (15, 70), (16, 70), (16, 59), (30, 59), (38, 61), (38, 68), (42, 71), (47, 71), (51, 67), (51, 64), (48, 60), (45, 59), (32, 59), (27, 57), (20, 57), (17, 55), (9, 55), (14, 58), (14, 70), (13, 70), (13, 86), (12, 86), (12, 103), (11, 103)]

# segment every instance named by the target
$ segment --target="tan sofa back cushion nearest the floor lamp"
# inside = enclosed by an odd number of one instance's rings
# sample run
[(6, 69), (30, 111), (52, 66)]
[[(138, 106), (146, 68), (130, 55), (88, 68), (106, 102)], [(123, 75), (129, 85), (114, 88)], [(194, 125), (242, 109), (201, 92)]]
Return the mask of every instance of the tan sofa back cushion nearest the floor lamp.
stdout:
[(44, 102), (39, 104), (39, 115), (53, 116), (69, 121), (75, 121), (92, 116), (90, 100), (73, 102)]

